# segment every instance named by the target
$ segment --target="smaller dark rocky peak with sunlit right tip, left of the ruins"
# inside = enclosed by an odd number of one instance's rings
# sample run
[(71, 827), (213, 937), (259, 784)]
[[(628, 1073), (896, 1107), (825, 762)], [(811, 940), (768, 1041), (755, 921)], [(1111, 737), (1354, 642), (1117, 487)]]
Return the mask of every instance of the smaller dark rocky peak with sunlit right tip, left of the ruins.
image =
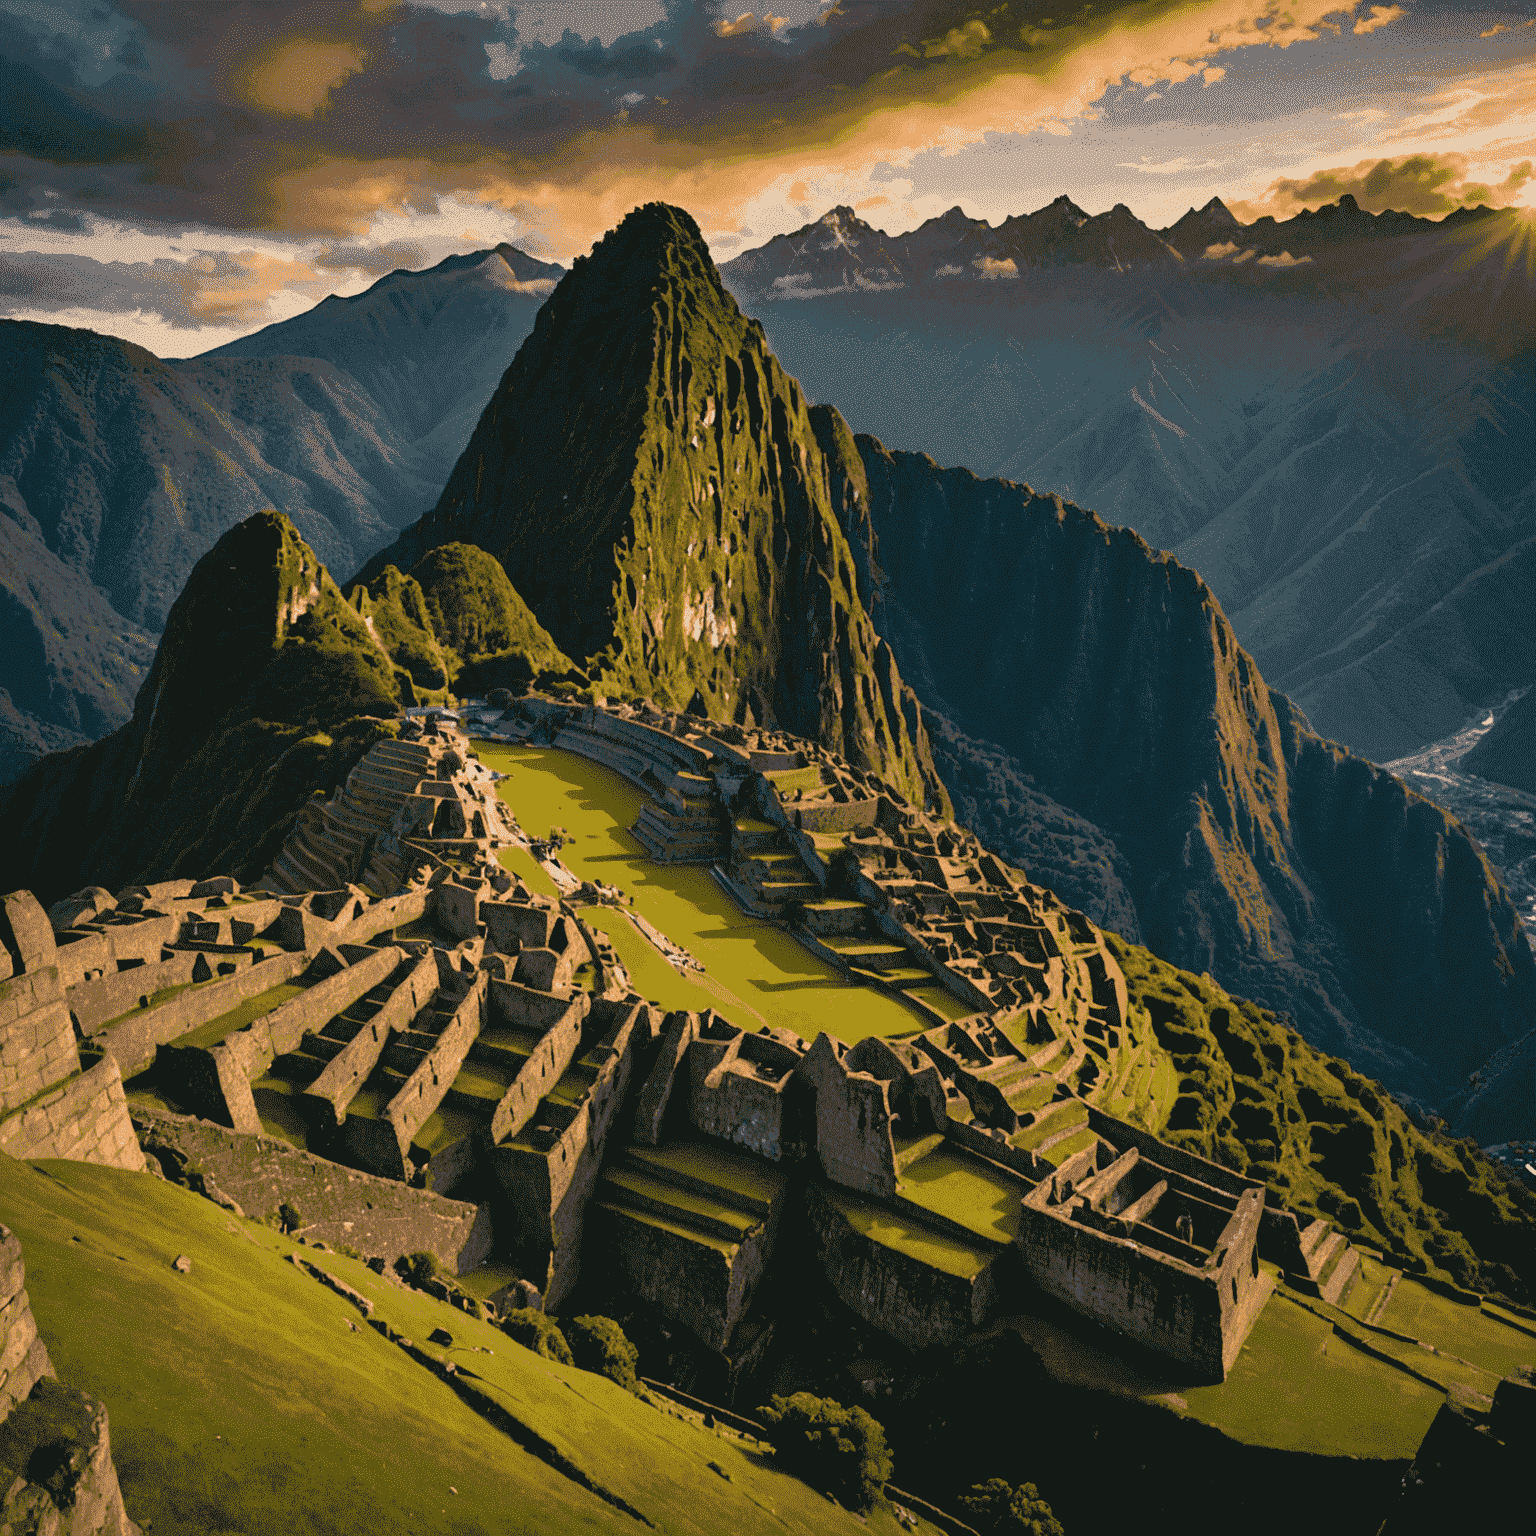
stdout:
[(393, 730), (409, 679), (384, 630), (287, 518), (247, 518), (194, 568), (127, 725), (0, 790), (0, 888), (48, 903), (264, 869), (304, 800)]

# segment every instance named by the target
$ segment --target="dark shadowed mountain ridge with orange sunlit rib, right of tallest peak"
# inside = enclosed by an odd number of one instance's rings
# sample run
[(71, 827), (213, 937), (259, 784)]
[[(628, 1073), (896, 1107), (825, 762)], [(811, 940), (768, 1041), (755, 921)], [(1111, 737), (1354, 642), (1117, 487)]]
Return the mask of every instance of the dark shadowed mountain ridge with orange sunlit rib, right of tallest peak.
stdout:
[(1476, 842), (1318, 737), (1193, 571), (872, 438), (839, 467), (880, 630), (945, 720), (940, 771), (962, 813), (1009, 794), (989, 831), (1031, 879), (1430, 1103), (1536, 1026), (1536, 963)]

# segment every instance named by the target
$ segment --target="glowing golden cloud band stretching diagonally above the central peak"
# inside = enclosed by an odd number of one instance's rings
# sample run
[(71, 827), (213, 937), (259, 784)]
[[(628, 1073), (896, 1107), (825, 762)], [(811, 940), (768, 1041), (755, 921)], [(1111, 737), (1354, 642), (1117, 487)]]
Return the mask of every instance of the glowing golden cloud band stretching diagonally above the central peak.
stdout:
[[(630, 120), (591, 129), (539, 158), (476, 143), (376, 161), (315, 151), (267, 170), (266, 212), (273, 227), (293, 233), (358, 235), (381, 209), (453, 194), (521, 218), (531, 214), (553, 249), (567, 253), (653, 198), (682, 204), (707, 230), (782, 226), (823, 197), (857, 204), (889, 192), (871, 180), (882, 161), (902, 167), (925, 151), (954, 154), (994, 132), (1066, 134), (1068, 123), (1091, 115), (1121, 81), (1152, 86), (1198, 75), (1213, 83), (1213, 55), (1315, 41), (1319, 23), (1339, 9), (1338, 0), (1296, 0), (1284, 9), (1276, 0), (1135, 0), (1106, 15), (1086, 11), (1069, 25), (1035, 28), (1029, 45), (968, 23), (928, 45), (942, 51), (946, 68), (899, 58), (863, 86), (828, 89), (791, 112), (777, 106), (771, 117), (743, 98), (697, 124)], [(332, 89), (338, 60), (329, 61), (332, 74), (315, 71), (307, 101)]]

